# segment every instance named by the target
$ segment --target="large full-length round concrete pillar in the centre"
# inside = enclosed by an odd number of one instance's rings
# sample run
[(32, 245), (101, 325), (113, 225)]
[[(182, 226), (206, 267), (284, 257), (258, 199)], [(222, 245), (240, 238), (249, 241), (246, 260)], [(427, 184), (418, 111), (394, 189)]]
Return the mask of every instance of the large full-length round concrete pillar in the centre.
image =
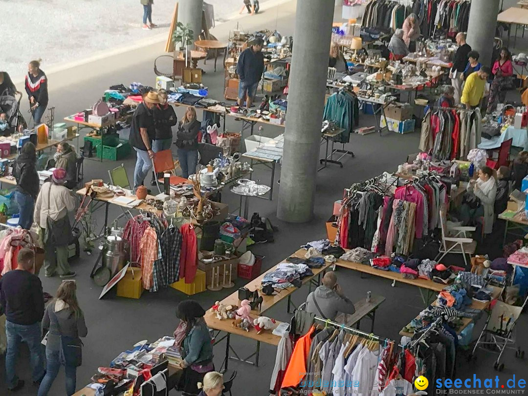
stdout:
[(333, 16), (333, 2), (297, 0), (277, 209), (290, 223), (307, 222), (314, 212)]

